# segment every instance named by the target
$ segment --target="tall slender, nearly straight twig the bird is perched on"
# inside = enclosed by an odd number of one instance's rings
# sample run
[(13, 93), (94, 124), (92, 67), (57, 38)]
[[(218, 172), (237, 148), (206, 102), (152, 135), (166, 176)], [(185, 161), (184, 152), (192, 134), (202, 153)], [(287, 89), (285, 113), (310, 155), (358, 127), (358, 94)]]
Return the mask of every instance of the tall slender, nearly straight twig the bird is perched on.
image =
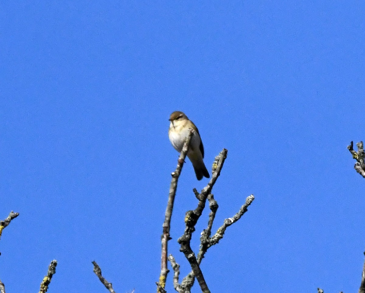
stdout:
[(171, 179), (171, 185), (170, 185), (170, 191), (169, 191), (169, 199), (166, 207), (165, 212), (165, 220), (164, 224), (162, 225), (162, 235), (161, 235), (161, 273), (160, 273), (160, 279), (157, 284), (157, 292), (158, 293), (165, 293), (165, 285), (166, 285), (166, 278), (167, 274), (169, 272), (167, 268), (167, 243), (171, 239), (170, 237), (170, 222), (171, 222), (171, 216), (172, 216), (172, 210), (174, 207), (174, 200), (175, 200), (175, 194), (177, 189), (177, 181), (181, 173), (181, 169), (183, 168), (185, 157), (189, 150), (189, 144), (191, 137), (193, 136), (193, 130), (189, 129), (189, 134), (185, 140), (183, 149), (181, 150), (180, 157), (177, 161), (177, 167), (175, 172), (171, 173), (172, 179)]

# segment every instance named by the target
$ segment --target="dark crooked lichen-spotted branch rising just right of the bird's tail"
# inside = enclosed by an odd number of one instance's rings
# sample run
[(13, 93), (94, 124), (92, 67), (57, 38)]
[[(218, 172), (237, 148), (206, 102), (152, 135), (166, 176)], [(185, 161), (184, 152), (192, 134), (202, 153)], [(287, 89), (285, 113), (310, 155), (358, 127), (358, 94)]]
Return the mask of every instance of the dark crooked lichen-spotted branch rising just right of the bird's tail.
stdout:
[(184, 234), (177, 240), (180, 244), (180, 251), (184, 253), (188, 262), (190, 263), (191, 269), (193, 271), (194, 276), (199, 282), (200, 289), (203, 293), (210, 293), (207, 283), (205, 282), (203, 273), (200, 270), (199, 263), (195, 257), (194, 252), (191, 249), (190, 241), (192, 237), (192, 233), (195, 231), (195, 225), (199, 220), (201, 213), (205, 208), (205, 202), (207, 201), (208, 195), (211, 193), (211, 190), (220, 175), (220, 171), (222, 170), (224, 161), (227, 157), (227, 150), (223, 149), (222, 152), (216, 156), (214, 164), (213, 164), (213, 174), (210, 182), (206, 187), (203, 188), (201, 193), (197, 195), (196, 190), (193, 190), (196, 197), (199, 199), (198, 206), (195, 210), (189, 210), (185, 216), (185, 231)]

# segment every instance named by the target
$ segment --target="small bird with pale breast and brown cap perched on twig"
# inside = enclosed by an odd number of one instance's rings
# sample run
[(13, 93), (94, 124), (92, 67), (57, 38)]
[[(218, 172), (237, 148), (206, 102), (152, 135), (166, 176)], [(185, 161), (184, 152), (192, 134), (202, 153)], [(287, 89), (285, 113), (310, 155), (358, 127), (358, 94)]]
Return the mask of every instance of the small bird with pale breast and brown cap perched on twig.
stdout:
[(193, 164), (196, 178), (201, 180), (203, 176), (209, 178), (209, 172), (204, 165), (204, 147), (200, 134), (195, 124), (180, 111), (175, 111), (170, 115), (169, 138), (176, 151), (181, 152), (185, 139), (188, 136), (189, 128), (193, 129), (193, 136), (190, 140), (188, 158)]

